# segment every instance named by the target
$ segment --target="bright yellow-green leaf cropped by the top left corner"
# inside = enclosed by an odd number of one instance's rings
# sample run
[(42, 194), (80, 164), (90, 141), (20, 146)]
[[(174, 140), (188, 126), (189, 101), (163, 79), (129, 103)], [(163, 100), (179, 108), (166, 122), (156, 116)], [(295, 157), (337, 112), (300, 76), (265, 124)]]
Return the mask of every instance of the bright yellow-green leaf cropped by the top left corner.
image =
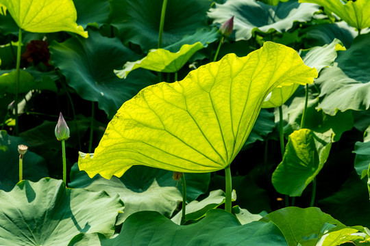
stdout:
[(87, 31), (77, 26), (77, 12), (72, 0), (0, 0), (0, 3), (8, 8), (18, 27), (25, 31), (71, 31), (88, 37)]

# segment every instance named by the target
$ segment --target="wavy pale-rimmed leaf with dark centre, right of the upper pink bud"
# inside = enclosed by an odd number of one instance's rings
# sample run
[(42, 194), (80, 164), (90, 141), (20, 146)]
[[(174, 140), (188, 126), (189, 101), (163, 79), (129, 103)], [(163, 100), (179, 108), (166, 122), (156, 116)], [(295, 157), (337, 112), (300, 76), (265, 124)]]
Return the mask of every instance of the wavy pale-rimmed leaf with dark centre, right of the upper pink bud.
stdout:
[(249, 40), (256, 31), (280, 33), (291, 29), (295, 22), (307, 22), (312, 19), (319, 6), (311, 3), (288, 1), (276, 6), (255, 0), (232, 0), (216, 4), (208, 16), (213, 23), (225, 23), (234, 16), (235, 39)]

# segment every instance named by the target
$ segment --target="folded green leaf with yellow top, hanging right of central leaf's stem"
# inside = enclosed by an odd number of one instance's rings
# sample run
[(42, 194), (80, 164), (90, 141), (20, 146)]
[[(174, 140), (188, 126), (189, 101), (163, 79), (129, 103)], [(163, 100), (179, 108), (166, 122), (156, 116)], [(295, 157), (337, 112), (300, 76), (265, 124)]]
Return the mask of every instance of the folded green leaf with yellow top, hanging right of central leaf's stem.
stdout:
[(328, 159), (331, 138), (310, 129), (293, 132), (286, 144), (282, 162), (272, 175), (276, 191), (290, 196), (299, 196), (319, 174)]

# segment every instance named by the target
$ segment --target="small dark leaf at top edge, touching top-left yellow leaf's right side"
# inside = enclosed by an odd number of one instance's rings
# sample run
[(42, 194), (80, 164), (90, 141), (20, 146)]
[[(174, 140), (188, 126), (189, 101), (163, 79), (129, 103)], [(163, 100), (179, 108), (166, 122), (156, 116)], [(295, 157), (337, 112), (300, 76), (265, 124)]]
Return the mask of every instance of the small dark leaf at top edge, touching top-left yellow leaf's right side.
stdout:
[(88, 25), (101, 27), (108, 23), (110, 5), (108, 0), (73, 0), (77, 10), (77, 23), (86, 28)]

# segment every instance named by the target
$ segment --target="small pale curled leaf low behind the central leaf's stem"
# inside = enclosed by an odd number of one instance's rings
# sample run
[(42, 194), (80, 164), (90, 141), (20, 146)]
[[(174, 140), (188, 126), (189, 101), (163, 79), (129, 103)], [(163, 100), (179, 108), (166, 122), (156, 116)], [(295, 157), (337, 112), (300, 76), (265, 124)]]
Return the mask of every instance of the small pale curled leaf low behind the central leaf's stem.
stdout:
[[(236, 193), (232, 193), (232, 201), (236, 200)], [(202, 217), (206, 216), (209, 210), (217, 208), (221, 204), (225, 203), (225, 193), (221, 190), (211, 191), (208, 197), (201, 201), (193, 201), (186, 205), (186, 215), (184, 222), (197, 221)], [(180, 225), (182, 220), (182, 210), (175, 215), (171, 221)]]

